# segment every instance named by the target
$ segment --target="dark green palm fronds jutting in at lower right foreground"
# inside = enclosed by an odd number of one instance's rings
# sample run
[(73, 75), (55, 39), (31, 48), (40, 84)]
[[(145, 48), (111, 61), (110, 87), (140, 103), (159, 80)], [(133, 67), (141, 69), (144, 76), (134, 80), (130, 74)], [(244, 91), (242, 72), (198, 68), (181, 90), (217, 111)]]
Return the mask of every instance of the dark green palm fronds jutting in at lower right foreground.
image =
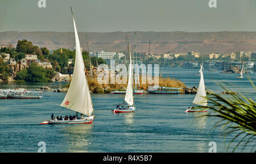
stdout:
[[(251, 81), (251, 79), (249, 79)], [(218, 84), (218, 83), (217, 83)], [(251, 81), (254, 89), (256, 87)], [(220, 84), (218, 84), (220, 85)], [(234, 136), (229, 142), (227, 151), (230, 146), (234, 146), (233, 152), (242, 146), (242, 151), (246, 146), (251, 146), (251, 152), (255, 151), (256, 140), (256, 102), (241, 92), (236, 94), (224, 84), (220, 85), (229, 96), (216, 94), (209, 91), (207, 95), (209, 112), (207, 115), (200, 117), (218, 117), (219, 121), (214, 125), (214, 128), (221, 128), (222, 135)], [(232, 145), (234, 141), (238, 143)]]

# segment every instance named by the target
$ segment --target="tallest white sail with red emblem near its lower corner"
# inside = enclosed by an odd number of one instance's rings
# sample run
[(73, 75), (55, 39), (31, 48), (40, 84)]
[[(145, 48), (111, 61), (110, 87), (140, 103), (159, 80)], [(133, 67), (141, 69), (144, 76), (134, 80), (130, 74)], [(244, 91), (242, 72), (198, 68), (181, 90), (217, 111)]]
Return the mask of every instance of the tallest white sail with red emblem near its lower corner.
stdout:
[[(73, 13), (72, 13), (73, 16)], [(73, 16), (73, 24), (76, 37), (76, 59), (73, 77), (68, 92), (60, 106), (70, 110), (91, 116), (93, 112), (92, 99), (90, 97), (89, 87), (85, 76), (84, 60), (82, 58), (79, 36), (76, 30), (76, 23)]]

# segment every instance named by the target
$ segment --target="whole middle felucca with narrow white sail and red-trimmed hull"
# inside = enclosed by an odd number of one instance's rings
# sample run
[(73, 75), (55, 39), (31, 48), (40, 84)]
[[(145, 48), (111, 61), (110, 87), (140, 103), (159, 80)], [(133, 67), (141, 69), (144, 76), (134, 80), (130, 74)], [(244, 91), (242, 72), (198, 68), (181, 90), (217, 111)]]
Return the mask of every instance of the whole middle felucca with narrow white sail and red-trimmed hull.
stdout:
[(118, 104), (114, 109), (112, 109), (113, 113), (124, 113), (124, 112), (134, 112), (136, 110), (134, 106), (133, 100), (133, 73), (132, 73), (132, 66), (131, 65), (131, 51), (130, 51), (130, 44), (128, 41), (128, 49), (129, 49), (129, 56), (130, 56), (130, 66), (129, 66), (129, 79), (128, 85), (125, 94), (125, 100), (123, 104)]

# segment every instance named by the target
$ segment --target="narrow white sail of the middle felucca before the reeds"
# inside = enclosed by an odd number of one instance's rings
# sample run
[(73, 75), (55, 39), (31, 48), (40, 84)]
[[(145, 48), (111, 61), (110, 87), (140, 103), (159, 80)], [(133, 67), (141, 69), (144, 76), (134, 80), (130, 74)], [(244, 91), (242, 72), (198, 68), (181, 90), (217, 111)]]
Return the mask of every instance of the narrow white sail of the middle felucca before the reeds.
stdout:
[(126, 89), (126, 94), (125, 94), (125, 102), (129, 105), (133, 105), (133, 75), (131, 70), (133, 69), (133, 65), (131, 65), (131, 52), (130, 52), (130, 45), (128, 42), (128, 47), (129, 47), (129, 55), (130, 55), (130, 65), (129, 65), (129, 79), (128, 79), (128, 85)]

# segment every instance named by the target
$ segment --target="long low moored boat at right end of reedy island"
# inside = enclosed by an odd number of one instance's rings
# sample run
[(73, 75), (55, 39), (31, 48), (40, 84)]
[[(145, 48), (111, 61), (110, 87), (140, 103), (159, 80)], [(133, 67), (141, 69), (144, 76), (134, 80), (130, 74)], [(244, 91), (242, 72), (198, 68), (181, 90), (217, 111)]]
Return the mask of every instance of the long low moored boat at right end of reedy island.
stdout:
[(180, 94), (181, 88), (149, 86), (147, 91), (149, 94)]

